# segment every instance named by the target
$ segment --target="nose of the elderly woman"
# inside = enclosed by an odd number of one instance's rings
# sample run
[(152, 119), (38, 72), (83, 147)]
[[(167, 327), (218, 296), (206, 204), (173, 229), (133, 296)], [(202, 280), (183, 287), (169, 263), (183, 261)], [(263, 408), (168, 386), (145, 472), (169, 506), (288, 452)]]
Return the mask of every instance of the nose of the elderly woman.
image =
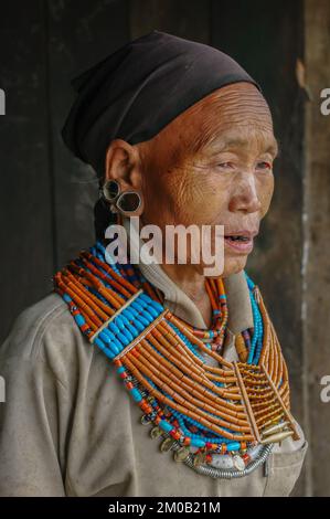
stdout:
[(253, 173), (244, 173), (230, 200), (230, 210), (233, 212), (243, 211), (254, 213), (259, 211), (262, 202), (256, 187), (255, 176)]

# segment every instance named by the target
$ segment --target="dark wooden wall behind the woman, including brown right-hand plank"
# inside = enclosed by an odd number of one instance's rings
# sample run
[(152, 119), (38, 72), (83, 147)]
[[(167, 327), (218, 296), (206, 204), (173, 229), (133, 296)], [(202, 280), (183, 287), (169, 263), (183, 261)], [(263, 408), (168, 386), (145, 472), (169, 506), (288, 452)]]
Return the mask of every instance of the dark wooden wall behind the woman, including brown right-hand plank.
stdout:
[[(97, 182), (64, 148), (70, 80), (152, 29), (211, 44), (264, 89), (281, 152), (273, 205), (247, 272), (260, 286), (290, 369), (292, 412), (310, 449), (295, 494), (330, 495), (330, 2), (1, 1), (0, 339), (94, 241)], [(297, 74), (298, 71), (298, 74)], [(148, 117), (148, 113), (146, 113)]]

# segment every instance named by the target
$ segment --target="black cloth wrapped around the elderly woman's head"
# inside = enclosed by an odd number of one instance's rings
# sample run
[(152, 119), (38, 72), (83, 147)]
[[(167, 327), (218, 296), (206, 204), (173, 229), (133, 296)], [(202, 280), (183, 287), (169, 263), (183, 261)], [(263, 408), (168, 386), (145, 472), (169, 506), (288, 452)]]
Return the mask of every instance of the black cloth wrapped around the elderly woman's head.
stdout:
[(243, 81), (262, 92), (223, 52), (155, 30), (73, 80), (77, 97), (62, 136), (76, 157), (103, 176), (113, 139), (148, 140), (213, 91)]

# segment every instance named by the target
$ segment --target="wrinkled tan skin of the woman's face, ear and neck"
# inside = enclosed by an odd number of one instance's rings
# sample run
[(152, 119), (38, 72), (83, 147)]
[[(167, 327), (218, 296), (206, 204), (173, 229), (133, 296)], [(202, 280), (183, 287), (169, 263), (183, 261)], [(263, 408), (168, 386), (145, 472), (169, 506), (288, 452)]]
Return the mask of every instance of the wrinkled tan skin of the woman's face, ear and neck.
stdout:
[[(196, 135), (205, 136), (198, 149)], [(142, 225), (163, 230), (166, 224), (222, 224), (225, 235), (233, 230), (258, 232), (273, 197), (276, 155), (268, 105), (254, 85), (242, 82), (204, 97), (148, 141), (131, 146), (114, 140), (105, 178), (141, 193), (143, 203), (136, 214)], [(247, 255), (225, 243), (222, 277), (242, 271)], [(162, 264), (209, 326), (204, 266)]]

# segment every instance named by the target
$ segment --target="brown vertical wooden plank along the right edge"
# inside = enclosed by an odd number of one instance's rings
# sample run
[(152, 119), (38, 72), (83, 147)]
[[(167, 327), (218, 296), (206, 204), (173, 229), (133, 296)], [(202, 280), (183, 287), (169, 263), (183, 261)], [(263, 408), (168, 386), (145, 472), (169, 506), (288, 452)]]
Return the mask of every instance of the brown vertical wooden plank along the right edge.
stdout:
[(310, 442), (308, 492), (330, 494), (330, 403), (320, 399), (320, 380), (330, 375), (327, 325), (330, 317), (330, 115), (320, 112), (320, 92), (330, 88), (330, 6), (306, 1), (304, 378)]

